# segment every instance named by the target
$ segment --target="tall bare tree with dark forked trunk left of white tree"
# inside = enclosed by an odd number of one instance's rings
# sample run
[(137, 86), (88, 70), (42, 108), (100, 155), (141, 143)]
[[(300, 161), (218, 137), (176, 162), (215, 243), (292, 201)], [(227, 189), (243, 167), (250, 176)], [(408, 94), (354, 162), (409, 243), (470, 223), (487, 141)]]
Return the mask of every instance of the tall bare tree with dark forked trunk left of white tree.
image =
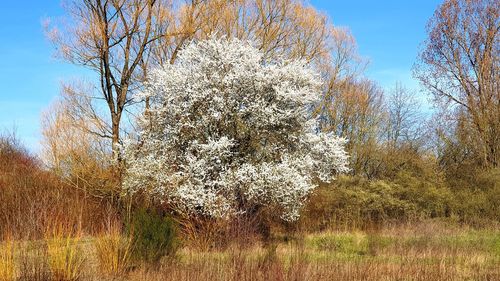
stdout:
[(165, 6), (168, 3), (160, 0), (74, 1), (66, 7), (69, 24), (62, 30), (48, 27), (50, 39), (65, 59), (97, 73), (99, 98), (106, 102), (111, 121), (109, 133), (99, 134), (111, 139), (115, 155), (123, 112), (143, 77), (140, 66), (170, 22)]

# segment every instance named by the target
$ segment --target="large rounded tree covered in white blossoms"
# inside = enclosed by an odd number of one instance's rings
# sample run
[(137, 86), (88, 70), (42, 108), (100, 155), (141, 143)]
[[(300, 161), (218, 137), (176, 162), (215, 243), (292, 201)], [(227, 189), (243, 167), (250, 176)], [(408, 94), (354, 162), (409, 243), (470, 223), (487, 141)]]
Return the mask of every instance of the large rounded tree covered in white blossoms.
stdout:
[(188, 214), (271, 206), (295, 220), (315, 182), (348, 170), (345, 140), (311, 118), (320, 79), (301, 61), (264, 61), (249, 43), (212, 37), (148, 81), (151, 108), (124, 148), (128, 192)]

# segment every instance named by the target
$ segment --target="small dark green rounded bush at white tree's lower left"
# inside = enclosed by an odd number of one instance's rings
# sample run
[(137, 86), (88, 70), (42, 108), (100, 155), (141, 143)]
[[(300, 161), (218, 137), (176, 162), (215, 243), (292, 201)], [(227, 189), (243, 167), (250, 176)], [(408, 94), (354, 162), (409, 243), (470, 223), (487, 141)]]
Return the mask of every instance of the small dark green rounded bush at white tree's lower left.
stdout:
[(132, 257), (146, 263), (158, 263), (177, 248), (175, 222), (153, 210), (138, 209), (128, 225), (132, 235)]

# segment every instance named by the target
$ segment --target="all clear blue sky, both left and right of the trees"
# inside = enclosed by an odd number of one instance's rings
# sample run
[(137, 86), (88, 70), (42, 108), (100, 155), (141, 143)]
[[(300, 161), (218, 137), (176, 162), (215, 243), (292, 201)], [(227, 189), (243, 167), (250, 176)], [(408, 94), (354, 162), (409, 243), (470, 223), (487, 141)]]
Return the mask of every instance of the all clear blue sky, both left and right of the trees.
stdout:
[[(310, 0), (335, 25), (351, 29), (368, 77), (388, 88), (418, 89), (411, 77), (425, 24), (440, 0)], [(3, 1), (0, 9), (0, 131), (16, 128), (39, 150), (40, 114), (59, 94), (60, 82), (82, 73), (53, 56), (42, 20), (63, 15), (60, 0)]]

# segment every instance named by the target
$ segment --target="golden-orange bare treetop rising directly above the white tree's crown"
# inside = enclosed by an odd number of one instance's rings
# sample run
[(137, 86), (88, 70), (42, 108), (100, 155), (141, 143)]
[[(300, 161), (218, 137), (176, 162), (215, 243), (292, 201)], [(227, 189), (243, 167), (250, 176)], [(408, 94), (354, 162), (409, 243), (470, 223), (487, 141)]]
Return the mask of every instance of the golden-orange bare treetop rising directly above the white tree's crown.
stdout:
[(160, 64), (173, 63), (186, 41), (217, 34), (251, 40), (269, 58), (285, 55), (307, 61), (327, 56), (333, 26), (303, 1), (211, 0), (175, 5), (175, 37), (158, 49)]

